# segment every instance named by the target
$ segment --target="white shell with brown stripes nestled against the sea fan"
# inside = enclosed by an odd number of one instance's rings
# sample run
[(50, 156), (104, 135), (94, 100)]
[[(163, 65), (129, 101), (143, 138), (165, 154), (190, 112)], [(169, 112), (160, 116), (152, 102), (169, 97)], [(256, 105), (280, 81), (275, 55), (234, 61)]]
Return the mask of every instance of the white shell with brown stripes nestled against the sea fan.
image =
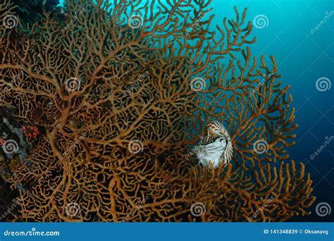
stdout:
[(233, 145), (226, 128), (218, 121), (205, 125), (199, 147), (197, 147), (197, 158), (203, 166), (214, 168), (220, 163), (230, 163), (233, 156)]

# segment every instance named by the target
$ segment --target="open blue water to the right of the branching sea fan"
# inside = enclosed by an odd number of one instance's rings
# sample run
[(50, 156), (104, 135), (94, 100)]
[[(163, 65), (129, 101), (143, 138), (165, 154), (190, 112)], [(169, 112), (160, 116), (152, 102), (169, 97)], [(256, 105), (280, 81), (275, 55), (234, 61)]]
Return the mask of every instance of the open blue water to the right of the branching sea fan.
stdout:
[[(297, 143), (288, 153), (291, 159), (306, 164), (306, 173), (314, 181), (312, 214), (295, 220), (333, 221), (334, 211), (318, 216), (315, 209), (321, 202), (334, 208), (334, 144), (330, 141), (334, 135), (334, 1), (213, 0), (212, 6), (212, 27), (222, 25), (224, 17), (234, 18), (233, 6), (239, 11), (247, 7), (251, 22), (259, 16), (265, 20), (264, 26), (254, 27), (252, 32), (257, 39), (252, 56), (273, 55), (283, 75), (280, 80), (291, 85), (299, 128), (295, 131)], [(317, 80), (322, 82), (318, 87)]]

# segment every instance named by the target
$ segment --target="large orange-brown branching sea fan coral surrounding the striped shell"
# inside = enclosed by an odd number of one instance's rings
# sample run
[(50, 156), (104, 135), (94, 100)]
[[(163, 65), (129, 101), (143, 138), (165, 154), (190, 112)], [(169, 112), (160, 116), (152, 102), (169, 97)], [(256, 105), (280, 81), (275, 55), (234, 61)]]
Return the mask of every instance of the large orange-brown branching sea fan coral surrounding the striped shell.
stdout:
[[(268, 65), (251, 56), (256, 39), (246, 11), (235, 8), (235, 19), (211, 32), (213, 16), (203, 18), (210, 1), (71, 0), (66, 7), (70, 23), (47, 13), (24, 41), (11, 36), (19, 26), (0, 30), (1, 108), (39, 130), (25, 163), (6, 178), (18, 190), (12, 221), (308, 214), (312, 182), (287, 154), (297, 128), (289, 87), (278, 81), (273, 57)], [(0, 8), (1, 18), (15, 14), (8, 0)], [(185, 158), (209, 121), (230, 133), (226, 167)], [(255, 152), (259, 140), (268, 145)]]

